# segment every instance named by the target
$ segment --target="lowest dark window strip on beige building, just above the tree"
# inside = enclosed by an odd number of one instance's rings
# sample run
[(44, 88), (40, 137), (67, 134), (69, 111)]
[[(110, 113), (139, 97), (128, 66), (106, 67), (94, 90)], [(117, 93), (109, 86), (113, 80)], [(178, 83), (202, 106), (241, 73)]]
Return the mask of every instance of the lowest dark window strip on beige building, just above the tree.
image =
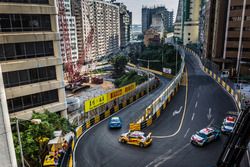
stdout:
[(16, 97), (8, 99), (8, 109), (10, 113), (18, 112), (21, 110), (34, 108), (54, 102), (58, 102), (58, 90), (50, 90), (46, 92), (35, 93), (27, 96)]

